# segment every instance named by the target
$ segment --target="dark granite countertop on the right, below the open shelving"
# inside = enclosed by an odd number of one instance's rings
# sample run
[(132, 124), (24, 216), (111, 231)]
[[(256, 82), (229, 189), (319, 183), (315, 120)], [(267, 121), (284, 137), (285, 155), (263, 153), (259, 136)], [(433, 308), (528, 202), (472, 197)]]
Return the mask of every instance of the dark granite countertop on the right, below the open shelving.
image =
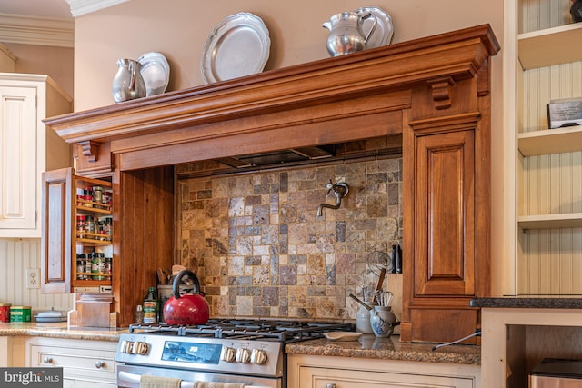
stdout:
[(579, 295), (477, 298), (471, 300), (470, 306), (481, 308), (582, 309), (582, 298)]

